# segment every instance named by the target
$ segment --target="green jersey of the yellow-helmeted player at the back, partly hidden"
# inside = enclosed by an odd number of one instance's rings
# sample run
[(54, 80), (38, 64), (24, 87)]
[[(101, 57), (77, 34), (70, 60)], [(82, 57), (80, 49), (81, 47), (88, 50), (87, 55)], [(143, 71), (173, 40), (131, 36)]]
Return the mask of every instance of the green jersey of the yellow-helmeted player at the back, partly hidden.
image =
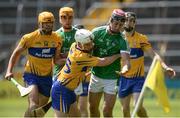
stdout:
[[(61, 27), (56, 31), (58, 35), (60, 35), (63, 39), (63, 45), (61, 48), (61, 53), (68, 53), (71, 44), (75, 42), (74, 35), (78, 29), (72, 27), (72, 30), (69, 32), (65, 32), (64, 29)], [(53, 68), (53, 75), (57, 75), (62, 67), (59, 65), (54, 65)]]

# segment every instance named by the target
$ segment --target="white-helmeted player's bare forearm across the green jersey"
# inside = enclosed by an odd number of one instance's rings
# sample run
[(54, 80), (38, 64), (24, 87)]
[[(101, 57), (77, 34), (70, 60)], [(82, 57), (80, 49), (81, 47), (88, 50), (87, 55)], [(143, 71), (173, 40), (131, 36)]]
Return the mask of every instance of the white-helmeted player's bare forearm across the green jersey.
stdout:
[(96, 66), (107, 66), (113, 63), (116, 59), (120, 58), (120, 56), (121, 56), (120, 54), (116, 54), (109, 57), (98, 58), (98, 63)]

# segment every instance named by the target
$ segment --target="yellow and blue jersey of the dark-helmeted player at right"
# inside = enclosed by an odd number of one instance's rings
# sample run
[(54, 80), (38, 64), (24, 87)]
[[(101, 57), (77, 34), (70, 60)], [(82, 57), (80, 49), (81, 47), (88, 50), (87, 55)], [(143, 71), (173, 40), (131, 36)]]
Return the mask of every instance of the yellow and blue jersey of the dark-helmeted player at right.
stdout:
[(127, 78), (144, 77), (144, 51), (151, 48), (146, 35), (135, 32), (133, 36), (126, 36), (130, 47), (130, 70), (123, 76)]

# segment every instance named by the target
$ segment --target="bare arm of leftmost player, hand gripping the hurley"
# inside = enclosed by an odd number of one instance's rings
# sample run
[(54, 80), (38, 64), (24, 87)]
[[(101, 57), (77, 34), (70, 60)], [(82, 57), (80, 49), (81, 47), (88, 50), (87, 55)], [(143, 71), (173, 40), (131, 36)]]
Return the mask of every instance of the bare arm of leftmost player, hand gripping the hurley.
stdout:
[(20, 55), (22, 54), (22, 52), (25, 50), (26, 48), (21, 46), (21, 45), (18, 45), (15, 50), (13, 51), (11, 57), (10, 57), (10, 60), (9, 60), (9, 63), (8, 63), (8, 67), (7, 67), (7, 72), (6, 72), (6, 75), (5, 75), (5, 78), (6, 79), (10, 79), (10, 77), (13, 77), (13, 68), (14, 66), (16, 65), (16, 63), (19, 61), (19, 57)]

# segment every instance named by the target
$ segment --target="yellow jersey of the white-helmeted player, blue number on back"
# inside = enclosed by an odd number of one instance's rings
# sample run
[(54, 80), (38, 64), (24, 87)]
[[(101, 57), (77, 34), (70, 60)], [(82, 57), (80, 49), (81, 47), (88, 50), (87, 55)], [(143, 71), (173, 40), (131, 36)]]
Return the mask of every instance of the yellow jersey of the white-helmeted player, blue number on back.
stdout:
[(73, 43), (66, 64), (59, 72), (58, 81), (68, 89), (74, 90), (83, 81), (87, 69), (97, 63), (98, 57), (82, 52), (76, 47), (76, 43)]

